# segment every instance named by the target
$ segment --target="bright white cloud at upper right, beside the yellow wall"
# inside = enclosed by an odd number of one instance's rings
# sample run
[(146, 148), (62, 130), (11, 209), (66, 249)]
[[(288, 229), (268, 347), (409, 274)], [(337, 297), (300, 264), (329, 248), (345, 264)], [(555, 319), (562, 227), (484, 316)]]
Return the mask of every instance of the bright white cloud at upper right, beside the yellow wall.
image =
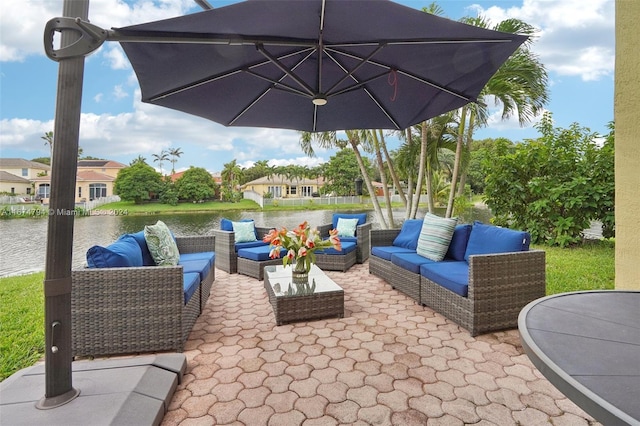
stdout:
[(472, 10), (491, 22), (517, 18), (538, 28), (532, 50), (549, 71), (583, 81), (613, 78), (614, 0), (523, 0), (521, 7)]

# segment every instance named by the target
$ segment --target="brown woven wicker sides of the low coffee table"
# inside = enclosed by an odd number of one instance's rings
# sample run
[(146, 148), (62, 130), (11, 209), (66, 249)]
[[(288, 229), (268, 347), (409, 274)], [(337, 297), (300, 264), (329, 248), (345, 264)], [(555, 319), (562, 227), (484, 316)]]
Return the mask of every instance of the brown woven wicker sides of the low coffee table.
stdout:
[(278, 325), (344, 316), (344, 291), (342, 290), (308, 296), (276, 297), (268, 277), (265, 277), (264, 281)]

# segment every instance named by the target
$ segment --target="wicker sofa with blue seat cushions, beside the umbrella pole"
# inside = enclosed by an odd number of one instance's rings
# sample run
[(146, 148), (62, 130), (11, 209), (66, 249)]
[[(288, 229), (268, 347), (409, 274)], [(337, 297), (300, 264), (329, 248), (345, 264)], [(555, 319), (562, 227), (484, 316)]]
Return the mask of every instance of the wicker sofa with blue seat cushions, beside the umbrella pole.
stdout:
[[(144, 244), (142, 231), (126, 237)], [(147, 258), (144, 266), (72, 271), (74, 356), (184, 349), (209, 297), (216, 259), (213, 236), (176, 237), (175, 242), (177, 266), (155, 266)]]

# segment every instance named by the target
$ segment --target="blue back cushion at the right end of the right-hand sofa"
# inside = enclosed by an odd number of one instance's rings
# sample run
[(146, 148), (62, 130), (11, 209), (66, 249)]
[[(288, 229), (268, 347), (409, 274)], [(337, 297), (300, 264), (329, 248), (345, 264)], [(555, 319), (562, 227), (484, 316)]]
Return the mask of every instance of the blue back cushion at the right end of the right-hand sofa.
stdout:
[(475, 222), (469, 235), (464, 260), (474, 254), (510, 253), (529, 250), (531, 236), (525, 231), (515, 231)]

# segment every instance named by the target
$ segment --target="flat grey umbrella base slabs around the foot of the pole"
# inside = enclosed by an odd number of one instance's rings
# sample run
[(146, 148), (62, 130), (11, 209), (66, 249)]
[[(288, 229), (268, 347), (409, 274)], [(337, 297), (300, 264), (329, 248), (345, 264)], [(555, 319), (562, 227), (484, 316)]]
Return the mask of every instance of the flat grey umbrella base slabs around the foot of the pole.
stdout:
[(76, 361), (73, 387), (80, 395), (41, 410), (44, 364), (0, 383), (0, 419), (7, 425), (158, 425), (187, 368), (183, 354)]

